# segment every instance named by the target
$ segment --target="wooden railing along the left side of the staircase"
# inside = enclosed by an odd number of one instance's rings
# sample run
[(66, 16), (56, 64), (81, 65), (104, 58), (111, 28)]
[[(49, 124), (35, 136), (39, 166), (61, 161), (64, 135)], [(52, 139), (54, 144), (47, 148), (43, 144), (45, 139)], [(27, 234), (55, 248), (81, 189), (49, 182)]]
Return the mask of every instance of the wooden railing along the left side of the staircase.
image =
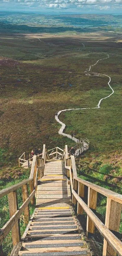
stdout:
[[(40, 157), (42, 156), (42, 157)], [(37, 180), (44, 175), (45, 161), (49, 158), (45, 145), (43, 146), (43, 152), (40, 156), (34, 156), (30, 177), (23, 180), (17, 185), (13, 185), (9, 188), (0, 191), (0, 198), (8, 195), (8, 205), (10, 219), (0, 230), (0, 255), (4, 255), (2, 252), (2, 242), (12, 230), (12, 242), (13, 246), (21, 241), (20, 235), (20, 223), (19, 218), (24, 212), (24, 222), (28, 224), (30, 220), (29, 203), (35, 205), (35, 197), (37, 191)], [(28, 196), (28, 186), (30, 187), (30, 195)], [(17, 189), (21, 188), (23, 204), (18, 208), (18, 196)]]

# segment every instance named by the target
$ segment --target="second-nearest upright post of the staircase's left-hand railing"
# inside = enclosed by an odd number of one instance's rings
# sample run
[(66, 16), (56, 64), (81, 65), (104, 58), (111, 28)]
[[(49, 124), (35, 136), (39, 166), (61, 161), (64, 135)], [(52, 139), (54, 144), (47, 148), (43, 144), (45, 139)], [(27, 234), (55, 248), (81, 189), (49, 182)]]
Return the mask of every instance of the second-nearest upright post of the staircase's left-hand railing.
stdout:
[[(28, 185), (25, 184), (21, 187), (21, 190), (22, 190), (22, 200), (23, 200), (23, 203), (25, 202), (25, 200), (28, 198)], [(29, 213), (29, 205), (25, 208), (25, 211), (24, 211), (24, 222), (25, 224), (28, 224), (30, 220), (30, 213)]]

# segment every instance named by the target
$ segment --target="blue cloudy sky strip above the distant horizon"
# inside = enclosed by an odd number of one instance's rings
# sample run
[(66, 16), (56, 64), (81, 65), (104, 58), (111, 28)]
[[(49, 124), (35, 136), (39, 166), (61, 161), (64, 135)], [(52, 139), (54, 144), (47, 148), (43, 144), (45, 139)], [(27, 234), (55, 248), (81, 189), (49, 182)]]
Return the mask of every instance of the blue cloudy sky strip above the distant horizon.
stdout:
[(0, 0), (0, 11), (122, 13), (122, 0)]

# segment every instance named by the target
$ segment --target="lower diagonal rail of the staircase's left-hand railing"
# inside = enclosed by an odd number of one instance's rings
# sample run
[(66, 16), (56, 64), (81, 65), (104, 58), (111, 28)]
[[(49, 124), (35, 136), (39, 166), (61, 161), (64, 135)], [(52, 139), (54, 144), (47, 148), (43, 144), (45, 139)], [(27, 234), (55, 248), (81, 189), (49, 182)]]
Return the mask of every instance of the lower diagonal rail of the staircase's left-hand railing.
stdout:
[[(28, 206), (29, 202), (31, 201), (31, 198), (35, 195), (35, 190), (30, 194), (28, 199), (21, 205), (21, 207), (15, 212), (14, 215), (6, 222), (6, 224), (2, 227), (2, 230), (0, 230), (0, 244), (2, 244), (5, 237), (8, 235), (10, 230), (13, 228), (16, 222), (18, 222), (18, 219), (20, 218), (22, 212), (25, 210), (25, 208)], [(15, 196), (14, 196), (15, 197)], [(9, 204), (13, 205), (14, 202), (11, 200), (9, 201)], [(17, 231), (18, 233), (18, 231)], [(19, 241), (18, 241), (19, 242)]]

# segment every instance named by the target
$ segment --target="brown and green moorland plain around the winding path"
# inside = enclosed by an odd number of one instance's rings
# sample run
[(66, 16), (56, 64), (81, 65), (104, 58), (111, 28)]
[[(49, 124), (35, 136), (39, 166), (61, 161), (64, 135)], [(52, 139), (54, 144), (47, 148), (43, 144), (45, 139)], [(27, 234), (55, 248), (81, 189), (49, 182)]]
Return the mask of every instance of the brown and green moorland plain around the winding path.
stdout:
[(49, 148), (73, 145), (58, 135), (60, 125), (55, 113), (66, 108), (94, 107), (110, 94), (108, 78), (84, 73), (106, 53), (110, 53), (110, 59), (100, 61), (92, 71), (110, 75), (115, 94), (104, 100), (100, 110), (67, 112), (60, 119), (67, 125), (66, 132), (75, 130), (77, 135), (90, 139), (91, 150), (120, 150), (122, 44), (116, 40), (108, 34), (98, 37), (94, 33), (1, 35), (0, 147), (6, 159), (17, 158), (25, 149), (30, 152), (43, 143)]

